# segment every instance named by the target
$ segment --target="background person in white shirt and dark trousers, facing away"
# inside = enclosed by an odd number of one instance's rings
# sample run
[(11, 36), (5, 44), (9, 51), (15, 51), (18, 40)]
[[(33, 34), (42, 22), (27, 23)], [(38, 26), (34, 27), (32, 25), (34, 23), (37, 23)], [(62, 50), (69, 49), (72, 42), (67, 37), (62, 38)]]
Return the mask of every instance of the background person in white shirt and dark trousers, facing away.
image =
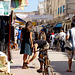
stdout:
[(56, 36), (59, 39), (61, 51), (65, 52), (65, 40), (66, 40), (66, 33), (63, 31), (63, 28), (60, 29), (60, 33)]

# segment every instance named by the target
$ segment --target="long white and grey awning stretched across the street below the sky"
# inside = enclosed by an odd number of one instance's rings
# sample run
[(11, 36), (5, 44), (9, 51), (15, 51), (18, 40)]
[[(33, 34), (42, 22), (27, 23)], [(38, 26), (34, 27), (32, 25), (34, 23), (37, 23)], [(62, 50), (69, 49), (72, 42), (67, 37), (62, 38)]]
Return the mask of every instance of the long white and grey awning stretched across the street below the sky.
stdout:
[(22, 19), (30, 20), (53, 20), (52, 15), (25, 15), (25, 14), (16, 14), (17, 17)]

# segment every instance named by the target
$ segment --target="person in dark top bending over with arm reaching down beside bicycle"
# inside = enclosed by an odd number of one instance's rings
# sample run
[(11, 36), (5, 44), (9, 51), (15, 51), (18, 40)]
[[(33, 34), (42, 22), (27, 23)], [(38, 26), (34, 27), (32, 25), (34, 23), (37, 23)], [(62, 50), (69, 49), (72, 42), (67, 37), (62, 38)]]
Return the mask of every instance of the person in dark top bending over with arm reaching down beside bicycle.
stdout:
[[(49, 49), (49, 43), (46, 41), (46, 40), (36, 40), (33, 42), (34, 44), (34, 55), (33, 57), (29, 60), (29, 62), (33, 61), (37, 55), (37, 49), (40, 48), (40, 50), (43, 50), (43, 49)], [(39, 52), (39, 58), (43, 58), (41, 57), (41, 53), (42, 51)], [(40, 69), (37, 70), (37, 72), (42, 72), (42, 68), (43, 68), (43, 62), (39, 61), (40, 62)]]

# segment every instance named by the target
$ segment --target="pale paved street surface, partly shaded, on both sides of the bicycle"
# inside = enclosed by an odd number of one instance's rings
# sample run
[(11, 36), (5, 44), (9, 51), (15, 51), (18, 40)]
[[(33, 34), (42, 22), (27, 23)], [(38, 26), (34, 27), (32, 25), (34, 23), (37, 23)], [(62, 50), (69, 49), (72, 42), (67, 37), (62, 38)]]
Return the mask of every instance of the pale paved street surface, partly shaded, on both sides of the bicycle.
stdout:
[[(68, 69), (66, 53), (49, 50), (48, 54), (54, 75), (75, 75), (74, 60), (72, 64), (72, 72), (66, 72), (66, 69)], [(22, 55), (19, 54), (19, 51), (12, 51), (12, 56), (14, 63), (11, 64), (11, 73), (14, 73), (15, 75), (42, 75), (41, 73), (37, 73), (37, 69), (39, 69), (38, 55), (29, 64), (29, 69), (22, 69)]]

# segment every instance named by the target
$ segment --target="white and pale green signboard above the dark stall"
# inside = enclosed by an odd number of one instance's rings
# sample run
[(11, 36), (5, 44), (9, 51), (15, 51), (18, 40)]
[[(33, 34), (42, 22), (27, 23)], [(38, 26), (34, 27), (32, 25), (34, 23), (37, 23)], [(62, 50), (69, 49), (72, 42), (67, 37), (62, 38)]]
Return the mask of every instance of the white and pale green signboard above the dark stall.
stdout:
[(10, 1), (0, 1), (0, 16), (9, 16), (10, 13)]

